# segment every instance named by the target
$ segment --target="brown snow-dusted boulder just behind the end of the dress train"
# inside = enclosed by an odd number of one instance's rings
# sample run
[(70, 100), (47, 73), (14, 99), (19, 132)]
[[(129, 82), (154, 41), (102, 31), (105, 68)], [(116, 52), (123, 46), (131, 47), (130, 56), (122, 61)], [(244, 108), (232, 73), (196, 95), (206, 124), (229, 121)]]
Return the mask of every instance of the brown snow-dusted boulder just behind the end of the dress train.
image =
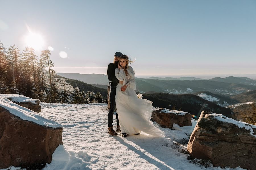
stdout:
[(172, 128), (174, 123), (181, 127), (191, 126), (191, 118), (192, 116), (188, 112), (163, 108), (152, 111), (152, 119), (165, 128)]

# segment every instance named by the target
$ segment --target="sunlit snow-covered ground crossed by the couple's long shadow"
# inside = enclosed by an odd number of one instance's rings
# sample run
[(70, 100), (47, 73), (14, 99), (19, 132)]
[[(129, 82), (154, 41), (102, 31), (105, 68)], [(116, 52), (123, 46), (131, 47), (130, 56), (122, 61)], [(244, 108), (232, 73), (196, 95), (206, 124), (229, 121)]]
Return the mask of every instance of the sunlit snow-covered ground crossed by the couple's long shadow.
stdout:
[[(44, 170), (83, 169), (172, 169), (172, 170), (220, 170), (220, 167), (204, 167), (189, 163), (184, 153), (189, 136), (195, 127), (161, 128), (164, 138), (140, 135), (111, 136), (107, 131), (106, 104), (54, 104), (41, 103), (40, 114), (63, 126), (63, 145), (53, 153), (53, 160)], [(114, 115), (114, 123), (115, 115)], [(196, 159), (193, 162), (198, 162)], [(10, 168), (9, 168), (10, 169)], [(11, 169), (16, 169), (11, 167)], [(225, 168), (231, 170), (232, 168)], [(235, 168), (232, 170), (242, 170)]]

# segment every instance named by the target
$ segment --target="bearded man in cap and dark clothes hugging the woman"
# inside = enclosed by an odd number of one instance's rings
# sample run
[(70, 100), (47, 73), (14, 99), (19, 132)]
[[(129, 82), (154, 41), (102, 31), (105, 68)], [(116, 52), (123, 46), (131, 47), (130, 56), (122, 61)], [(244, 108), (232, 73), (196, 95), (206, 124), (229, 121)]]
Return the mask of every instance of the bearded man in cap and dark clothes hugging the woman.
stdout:
[[(115, 69), (118, 68), (118, 61), (119, 61), (119, 57), (122, 55), (121, 52), (116, 52), (114, 55), (114, 61), (113, 63), (110, 63), (108, 65), (108, 80), (111, 81), (110, 83), (110, 94), (109, 94), (109, 98), (110, 98), (110, 109), (108, 112), (108, 133), (110, 135), (117, 135), (117, 133), (114, 131), (113, 129), (113, 114), (116, 110), (116, 105), (115, 105), (115, 92), (116, 92), (116, 86), (119, 83), (119, 80), (115, 77)], [(118, 115), (116, 112), (116, 131), (121, 131), (120, 130), (120, 126), (119, 126), (119, 120), (118, 120)]]

